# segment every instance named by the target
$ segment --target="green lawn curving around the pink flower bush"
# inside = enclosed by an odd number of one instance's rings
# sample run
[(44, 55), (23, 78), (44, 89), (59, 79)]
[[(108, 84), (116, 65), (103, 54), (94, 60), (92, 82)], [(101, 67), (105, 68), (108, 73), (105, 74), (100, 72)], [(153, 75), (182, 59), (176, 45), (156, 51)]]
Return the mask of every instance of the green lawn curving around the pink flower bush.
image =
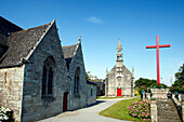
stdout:
[(113, 106), (108, 107), (107, 109), (101, 111), (100, 114), (119, 120), (145, 122), (144, 120), (131, 117), (128, 112), (128, 106), (130, 106), (133, 101), (136, 100), (140, 100), (140, 98), (120, 100), (114, 104)]

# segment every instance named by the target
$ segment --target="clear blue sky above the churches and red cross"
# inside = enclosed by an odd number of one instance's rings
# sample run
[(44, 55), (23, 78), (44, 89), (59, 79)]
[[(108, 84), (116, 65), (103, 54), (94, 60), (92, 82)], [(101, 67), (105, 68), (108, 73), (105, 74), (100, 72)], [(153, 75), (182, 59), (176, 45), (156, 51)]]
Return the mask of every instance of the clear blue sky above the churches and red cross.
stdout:
[(184, 63), (184, 0), (1, 0), (0, 14), (24, 29), (56, 21), (62, 46), (81, 36), (86, 70), (104, 79), (116, 65), (118, 39), (123, 65), (135, 80), (157, 79), (156, 44), (160, 49), (161, 83), (174, 82)]

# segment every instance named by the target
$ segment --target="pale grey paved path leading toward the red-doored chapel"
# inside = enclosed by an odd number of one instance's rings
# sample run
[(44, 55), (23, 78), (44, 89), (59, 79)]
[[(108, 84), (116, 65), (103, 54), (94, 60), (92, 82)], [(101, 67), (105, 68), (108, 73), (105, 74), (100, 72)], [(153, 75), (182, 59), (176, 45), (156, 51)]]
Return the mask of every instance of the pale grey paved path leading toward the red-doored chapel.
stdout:
[(118, 100), (130, 99), (130, 98), (115, 98), (115, 99), (103, 99), (97, 100), (97, 105), (61, 113), (56, 117), (41, 120), (39, 122), (130, 122), (123, 120), (117, 120), (113, 118), (106, 118), (100, 116), (98, 112), (114, 105)]

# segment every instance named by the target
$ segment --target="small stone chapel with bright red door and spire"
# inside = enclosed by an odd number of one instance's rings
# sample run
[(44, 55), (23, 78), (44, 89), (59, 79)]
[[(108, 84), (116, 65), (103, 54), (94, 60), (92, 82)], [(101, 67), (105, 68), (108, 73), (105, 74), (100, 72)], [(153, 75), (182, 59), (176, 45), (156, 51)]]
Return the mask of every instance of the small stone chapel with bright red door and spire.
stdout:
[(134, 96), (134, 69), (132, 72), (123, 65), (122, 46), (117, 46), (117, 59), (114, 68), (106, 71), (105, 81), (106, 96)]

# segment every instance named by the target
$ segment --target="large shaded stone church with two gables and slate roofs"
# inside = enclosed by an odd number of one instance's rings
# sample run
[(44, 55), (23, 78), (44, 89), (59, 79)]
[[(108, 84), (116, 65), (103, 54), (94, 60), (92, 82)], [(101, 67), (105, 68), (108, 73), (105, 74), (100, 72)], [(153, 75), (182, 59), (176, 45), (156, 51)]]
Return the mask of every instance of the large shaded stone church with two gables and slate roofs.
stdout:
[(0, 16), (0, 106), (36, 121), (96, 101), (87, 81), (81, 38), (62, 46), (55, 21), (23, 29)]

